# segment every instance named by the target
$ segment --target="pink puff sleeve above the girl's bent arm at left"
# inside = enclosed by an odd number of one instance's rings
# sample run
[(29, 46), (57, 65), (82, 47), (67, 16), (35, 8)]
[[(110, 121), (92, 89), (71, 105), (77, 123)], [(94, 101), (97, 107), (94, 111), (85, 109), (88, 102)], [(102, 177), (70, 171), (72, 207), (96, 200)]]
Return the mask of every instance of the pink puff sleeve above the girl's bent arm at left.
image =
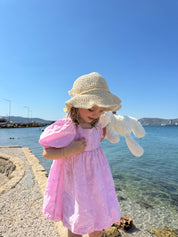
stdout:
[(62, 148), (68, 146), (76, 136), (76, 128), (71, 119), (61, 119), (48, 126), (40, 136), (44, 147)]

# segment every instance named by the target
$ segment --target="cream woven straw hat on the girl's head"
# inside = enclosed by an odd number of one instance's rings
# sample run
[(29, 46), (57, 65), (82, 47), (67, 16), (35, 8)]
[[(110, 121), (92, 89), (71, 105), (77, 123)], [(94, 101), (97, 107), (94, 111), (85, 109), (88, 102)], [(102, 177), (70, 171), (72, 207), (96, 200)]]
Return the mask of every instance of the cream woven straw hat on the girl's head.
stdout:
[(89, 109), (94, 105), (104, 107), (106, 111), (121, 108), (121, 100), (110, 92), (106, 80), (97, 72), (77, 78), (69, 95), (73, 96), (65, 102), (66, 111), (71, 107)]

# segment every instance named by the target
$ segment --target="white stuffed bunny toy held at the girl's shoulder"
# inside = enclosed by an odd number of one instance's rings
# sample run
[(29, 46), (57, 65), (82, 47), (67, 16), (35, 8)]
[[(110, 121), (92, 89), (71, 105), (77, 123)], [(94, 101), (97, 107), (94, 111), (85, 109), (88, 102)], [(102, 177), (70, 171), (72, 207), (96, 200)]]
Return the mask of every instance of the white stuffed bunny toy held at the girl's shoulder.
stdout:
[(134, 156), (142, 156), (143, 148), (130, 135), (134, 133), (136, 137), (144, 137), (145, 130), (135, 118), (104, 112), (100, 117), (102, 127), (106, 127), (106, 136), (111, 143), (119, 142), (118, 134), (125, 137), (126, 144)]

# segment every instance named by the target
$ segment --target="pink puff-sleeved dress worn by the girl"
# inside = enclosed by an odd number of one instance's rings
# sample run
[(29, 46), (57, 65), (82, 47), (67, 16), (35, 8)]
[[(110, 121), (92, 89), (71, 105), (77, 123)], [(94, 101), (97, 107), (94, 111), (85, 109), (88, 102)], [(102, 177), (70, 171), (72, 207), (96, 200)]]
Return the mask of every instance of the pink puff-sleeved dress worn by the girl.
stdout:
[(83, 137), (87, 141), (82, 153), (53, 161), (43, 204), (46, 218), (62, 221), (80, 235), (107, 229), (120, 220), (112, 174), (100, 146), (102, 136), (100, 124), (76, 128), (67, 118), (47, 127), (39, 141), (45, 148), (65, 147)]

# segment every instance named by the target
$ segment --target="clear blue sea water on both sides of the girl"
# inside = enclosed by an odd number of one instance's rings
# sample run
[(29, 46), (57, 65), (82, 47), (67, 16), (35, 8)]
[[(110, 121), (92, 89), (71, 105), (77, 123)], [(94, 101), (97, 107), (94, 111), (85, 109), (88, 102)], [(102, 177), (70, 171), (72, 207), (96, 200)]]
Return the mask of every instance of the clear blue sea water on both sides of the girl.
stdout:
[[(0, 146), (29, 147), (49, 172), (52, 161), (43, 158), (43, 148), (38, 143), (42, 129), (0, 129)], [(124, 137), (117, 144), (106, 139), (101, 143), (111, 167), (121, 214), (136, 220), (140, 228), (178, 228), (178, 126), (146, 126), (145, 131), (144, 138), (133, 136), (144, 148), (142, 157), (131, 154)]]

